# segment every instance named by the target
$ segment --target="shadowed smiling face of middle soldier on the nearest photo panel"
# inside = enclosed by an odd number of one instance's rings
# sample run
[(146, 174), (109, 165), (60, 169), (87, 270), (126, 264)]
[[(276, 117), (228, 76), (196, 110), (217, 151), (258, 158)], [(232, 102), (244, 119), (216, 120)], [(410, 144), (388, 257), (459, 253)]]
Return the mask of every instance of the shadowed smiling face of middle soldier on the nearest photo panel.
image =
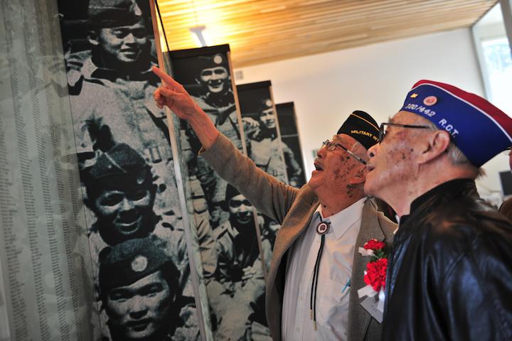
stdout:
[(104, 190), (94, 202), (95, 214), (101, 229), (112, 229), (108, 233), (122, 242), (141, 237), (149, 229), (154, 192), (151, 188), (138, 190)]

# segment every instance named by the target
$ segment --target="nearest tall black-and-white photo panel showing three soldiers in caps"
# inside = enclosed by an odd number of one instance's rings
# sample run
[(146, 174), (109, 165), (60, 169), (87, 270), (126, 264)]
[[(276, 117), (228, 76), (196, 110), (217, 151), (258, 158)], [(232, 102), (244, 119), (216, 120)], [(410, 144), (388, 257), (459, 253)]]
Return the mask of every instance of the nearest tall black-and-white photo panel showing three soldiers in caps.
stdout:
[(203, 274), (191, 274), (169, 126), (153, 99), (149, 1), (58, 7), (102, 334), (198, 340), (191, 276), (213, 276), (215, 240), (197, 215)]

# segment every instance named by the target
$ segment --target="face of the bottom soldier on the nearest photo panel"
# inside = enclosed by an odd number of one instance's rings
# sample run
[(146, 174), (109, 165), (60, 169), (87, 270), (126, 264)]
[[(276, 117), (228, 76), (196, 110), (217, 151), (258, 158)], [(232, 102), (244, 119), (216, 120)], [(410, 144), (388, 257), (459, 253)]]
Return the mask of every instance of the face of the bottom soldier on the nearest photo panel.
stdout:
[(173, 296), (161, 271), (112, 289), (105, 309), (110, 328), (121, 333), (122, 340), (146, 340), (169, 323)]

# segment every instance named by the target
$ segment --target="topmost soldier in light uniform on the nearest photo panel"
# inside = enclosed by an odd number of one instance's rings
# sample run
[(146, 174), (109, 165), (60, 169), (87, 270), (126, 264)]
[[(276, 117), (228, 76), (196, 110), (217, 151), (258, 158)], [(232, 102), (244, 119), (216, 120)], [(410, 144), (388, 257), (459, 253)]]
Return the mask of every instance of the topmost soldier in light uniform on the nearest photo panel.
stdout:
[(151, 75), (148, 4), (91, 0), (87, 27), (90, 48), (69, 53), (67, 60), (68, 82), (75, 94), (70, 99), (80, 164), (93, 163), (98, 151), (114, 144), (129, 144), (144, 155), (159, 178), (156, 210), (176, 211), (179, 204), (173, 190), (176, 177), (166, 114), (152, 101), (159, 80)]

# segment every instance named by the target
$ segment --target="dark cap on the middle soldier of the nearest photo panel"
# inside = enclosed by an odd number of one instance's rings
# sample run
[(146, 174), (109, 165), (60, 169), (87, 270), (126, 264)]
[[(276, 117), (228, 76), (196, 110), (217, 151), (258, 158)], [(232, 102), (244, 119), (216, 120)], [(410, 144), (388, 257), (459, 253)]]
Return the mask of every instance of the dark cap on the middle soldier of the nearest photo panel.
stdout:
[(152, 183), (151, 168), (127, 144), (116, 144), (102, 153), (85, 175), (85, 185), (104, 189), (137, 189)]

